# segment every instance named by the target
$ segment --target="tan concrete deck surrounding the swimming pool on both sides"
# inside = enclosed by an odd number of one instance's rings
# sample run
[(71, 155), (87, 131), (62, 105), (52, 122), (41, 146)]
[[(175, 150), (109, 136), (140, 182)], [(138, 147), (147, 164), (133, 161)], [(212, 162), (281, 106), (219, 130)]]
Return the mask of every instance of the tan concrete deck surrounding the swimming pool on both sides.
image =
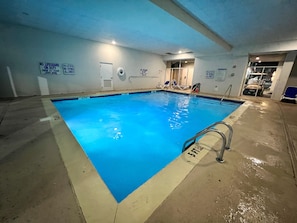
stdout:
[(185, 178), (168, 168), (152, 180), (158, 187), (148, 184), (120, 204), (49, 97), (0, 100), (1, 222), (296, 222), (297, 105), (242, 98), (249, 103), (229, 117), (225, 163), (213, 151), (193, 162), (181, 156), (179, 171), (191, 166)]

